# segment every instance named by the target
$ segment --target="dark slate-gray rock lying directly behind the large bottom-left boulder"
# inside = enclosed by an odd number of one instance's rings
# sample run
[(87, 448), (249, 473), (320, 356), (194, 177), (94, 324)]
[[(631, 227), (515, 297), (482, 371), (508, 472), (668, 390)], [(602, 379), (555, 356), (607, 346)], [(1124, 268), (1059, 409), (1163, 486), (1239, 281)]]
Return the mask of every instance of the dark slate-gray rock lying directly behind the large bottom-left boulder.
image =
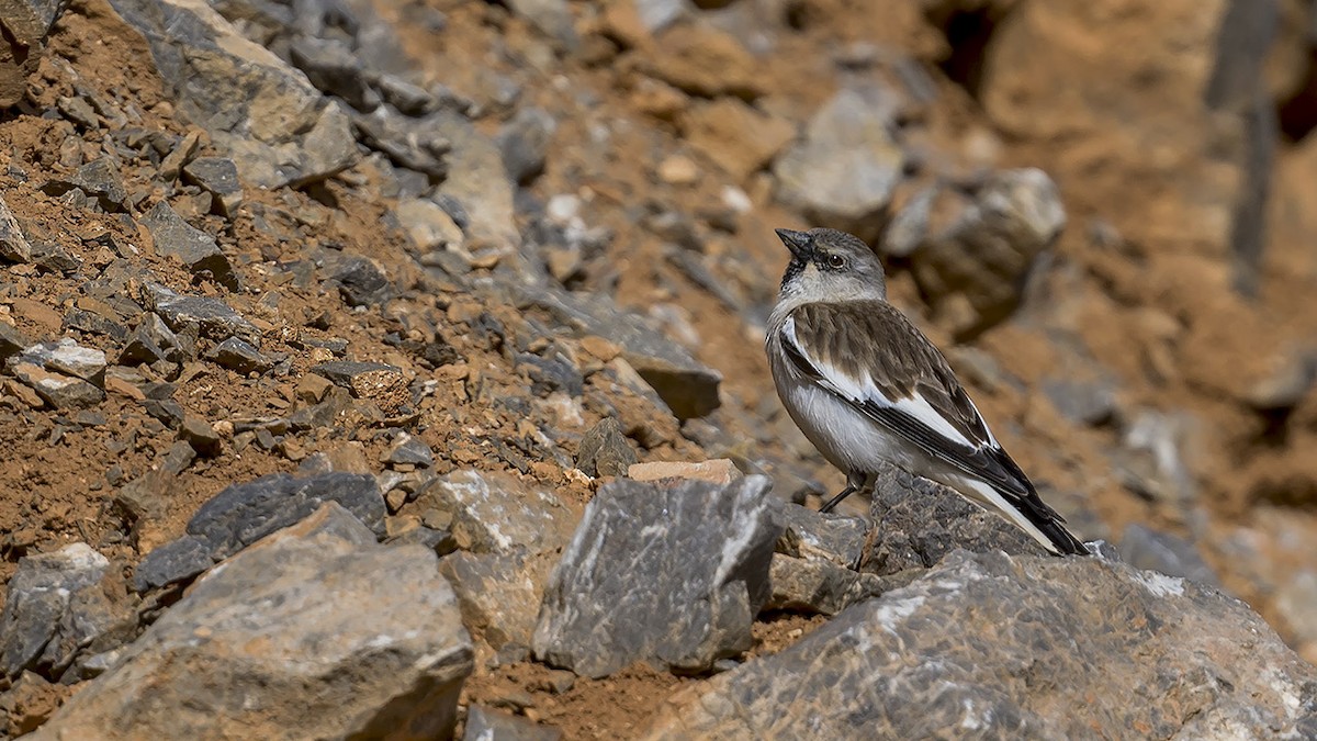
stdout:
[(187, 522), (186, 535), (146, 554), (133, 574), (133, 588), (145, 592), (195, 576), (324, 502), (341, 505), (383, 537), (385, 498), (374, 476), (336, 472), (295, 479), (271, 473), (233, 484), (203, 504)]

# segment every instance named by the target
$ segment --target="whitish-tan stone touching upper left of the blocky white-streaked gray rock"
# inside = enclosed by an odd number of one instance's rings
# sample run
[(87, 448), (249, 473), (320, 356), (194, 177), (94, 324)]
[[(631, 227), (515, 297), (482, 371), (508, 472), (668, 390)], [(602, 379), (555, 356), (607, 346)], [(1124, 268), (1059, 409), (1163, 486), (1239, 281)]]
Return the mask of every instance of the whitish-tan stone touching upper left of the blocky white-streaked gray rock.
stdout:
[(540, 554), (572, 538), (576, 516), (557, 496), (510, 473), (454, 471), (425, 489), (423, 509), (452, 514), (461, 548), (491, 554)]

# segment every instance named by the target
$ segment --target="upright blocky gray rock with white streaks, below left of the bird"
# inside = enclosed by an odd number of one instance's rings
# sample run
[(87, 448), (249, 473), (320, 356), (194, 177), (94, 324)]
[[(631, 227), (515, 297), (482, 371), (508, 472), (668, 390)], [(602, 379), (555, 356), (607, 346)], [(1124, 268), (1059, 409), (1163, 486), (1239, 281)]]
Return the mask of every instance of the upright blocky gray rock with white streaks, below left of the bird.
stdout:
[(545, 589), (536, 657), (598, 678), (636, 661), (705, 671), (749, 649), (778, 535), (768, 489), (763, 476), (602, 487)]

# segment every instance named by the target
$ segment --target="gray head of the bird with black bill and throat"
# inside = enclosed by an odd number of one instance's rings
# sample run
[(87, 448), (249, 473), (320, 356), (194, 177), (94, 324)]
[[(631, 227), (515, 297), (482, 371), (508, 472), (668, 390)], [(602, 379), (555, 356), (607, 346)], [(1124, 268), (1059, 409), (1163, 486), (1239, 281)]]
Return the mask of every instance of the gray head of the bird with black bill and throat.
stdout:
[(836, 229), (774, 229), (792, 261), (782, 274), (778, 299), (793, 302), (855, 301), (888, 297), (878, 256), (857, 236)]

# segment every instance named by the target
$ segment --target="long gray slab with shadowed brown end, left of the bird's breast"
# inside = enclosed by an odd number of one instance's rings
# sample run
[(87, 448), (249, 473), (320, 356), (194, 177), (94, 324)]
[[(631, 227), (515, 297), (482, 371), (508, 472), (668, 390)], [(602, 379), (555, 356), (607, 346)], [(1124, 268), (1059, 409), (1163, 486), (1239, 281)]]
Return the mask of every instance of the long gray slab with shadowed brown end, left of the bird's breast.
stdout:
[(722, 374), (701, 365), (647, 319), (611, 302), (549, 287), (523, 286), (516, 303), (523, 310), (543, 309), (579, 335), (598, 335), (619, 344), (627, 363), (678, 419), (703, 417), (722, 403)]

